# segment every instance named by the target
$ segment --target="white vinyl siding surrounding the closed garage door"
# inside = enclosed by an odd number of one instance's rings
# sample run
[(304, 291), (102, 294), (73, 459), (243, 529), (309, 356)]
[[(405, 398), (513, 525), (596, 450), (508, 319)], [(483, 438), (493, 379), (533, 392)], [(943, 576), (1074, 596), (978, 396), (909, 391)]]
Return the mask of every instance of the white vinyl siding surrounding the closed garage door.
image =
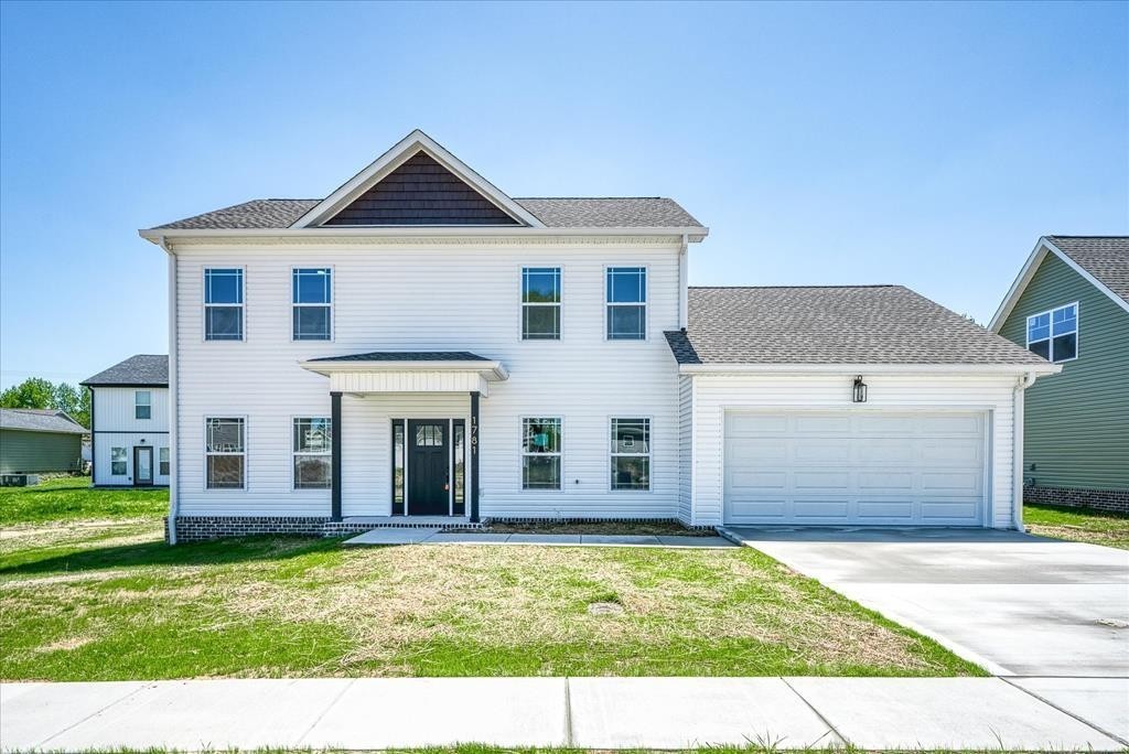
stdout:
[[(723, 521), (725, 415), (756, 410), (859, 410), (851, 403), (855, 375), (695, 375), (693, 377), (693, 524)], [(1014, 376), (865, 375), (866, 410), (959, 411), (986, 415), (989, 521), (1013, 526)]]

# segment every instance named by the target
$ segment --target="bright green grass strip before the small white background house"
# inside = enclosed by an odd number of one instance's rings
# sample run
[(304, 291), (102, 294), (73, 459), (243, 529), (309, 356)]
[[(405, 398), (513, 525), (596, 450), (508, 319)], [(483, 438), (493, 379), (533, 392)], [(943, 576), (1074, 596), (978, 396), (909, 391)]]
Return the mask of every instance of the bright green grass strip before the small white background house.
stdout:
[(79, 518), (152, 518), (167, 511), (167, 489), (93, 490), (89, 476), (61, 476), (27, 488), (0, 486), (0, 526)]

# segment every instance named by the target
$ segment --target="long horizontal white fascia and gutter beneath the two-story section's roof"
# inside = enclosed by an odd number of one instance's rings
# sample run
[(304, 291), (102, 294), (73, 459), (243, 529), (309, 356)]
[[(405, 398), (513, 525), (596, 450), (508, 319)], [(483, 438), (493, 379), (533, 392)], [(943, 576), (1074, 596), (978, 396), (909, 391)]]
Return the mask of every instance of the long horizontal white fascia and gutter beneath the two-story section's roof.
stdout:
[(209, 240), (260, 238), (303, 238), (317, 242), (322, 238), (427, 238), (427, 237), (619, 237), (619, 236), (662, 236), (669, 237), (672, 243), (680, 243), (685, 236), (692, 243), (699, 243), (709, 235), (709, 228), (515, 228), (513, 226), (342, 226), (318, 228), (143, 228), (138, 235), (160, 245), (163, 239), (175, 242), (177, 238), (199, 238)]

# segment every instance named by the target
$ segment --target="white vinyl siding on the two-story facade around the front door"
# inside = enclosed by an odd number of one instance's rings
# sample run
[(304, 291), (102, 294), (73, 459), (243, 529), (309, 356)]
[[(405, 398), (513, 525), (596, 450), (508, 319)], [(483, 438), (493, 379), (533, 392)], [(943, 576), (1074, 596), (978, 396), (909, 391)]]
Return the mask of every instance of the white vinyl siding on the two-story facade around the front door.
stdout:
[[(677, 327), (679, 243), (505, 243), (176, 248), (178, 283), (178, 473), (182, 515), (326, 516), (329, 490), (291, 486), (292, 417), (330, 414), (329, 380), (298, 366), (374, 350), (471, 351), (500, 360), (510, 378), (490, 385), (480, 407), (482, 516), (673, 518), (679, 505), (677, 367), (663, 337), (624, 348), (605, 340), (605, 271), (647, 270), (654, 333)], [(205, 342), (200, 307), (205, 266), (246, 270), (245, 342)], [(334, 340), (291, 340), (291, 269), (332, 268)], [(515, 333), (515, 272), (560, 266), (561, 340)], [(342, 512), (391, 512), (391, 420), (469, 419), (465, 392), (342, 397)], [(248, 421), (245, 490), (204, 491), (204, 417)], [(522, 490), (522, 417), (562, 417), (562, 490)], [(609, 490), (611, 417), (651, 419), (650, 491)]]

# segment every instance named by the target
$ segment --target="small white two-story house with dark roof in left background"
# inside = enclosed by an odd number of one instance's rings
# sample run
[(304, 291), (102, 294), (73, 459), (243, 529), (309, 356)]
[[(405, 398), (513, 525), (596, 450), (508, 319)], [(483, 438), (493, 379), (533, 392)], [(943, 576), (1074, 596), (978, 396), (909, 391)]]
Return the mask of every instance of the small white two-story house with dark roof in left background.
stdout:
[(91, 484), (167, 485), (168, 357), (131, 356), (81, 384), (90, 388)]

